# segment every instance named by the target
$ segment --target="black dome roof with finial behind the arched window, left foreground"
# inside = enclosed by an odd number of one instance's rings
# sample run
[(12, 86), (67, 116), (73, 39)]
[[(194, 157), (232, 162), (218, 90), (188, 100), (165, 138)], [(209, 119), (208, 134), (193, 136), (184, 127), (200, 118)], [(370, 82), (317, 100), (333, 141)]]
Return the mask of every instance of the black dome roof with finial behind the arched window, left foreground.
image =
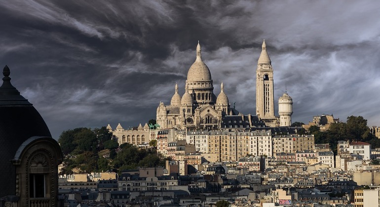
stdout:
[[(0, 87), (0, 183), (15, 183), (13, 160), (17, 149), (33, 136), (51, 137), (35, 107), (12, 86), (10, 71), (4, 67)], [(0, 197), (15, 192), (14, 185), (2, 185)]]

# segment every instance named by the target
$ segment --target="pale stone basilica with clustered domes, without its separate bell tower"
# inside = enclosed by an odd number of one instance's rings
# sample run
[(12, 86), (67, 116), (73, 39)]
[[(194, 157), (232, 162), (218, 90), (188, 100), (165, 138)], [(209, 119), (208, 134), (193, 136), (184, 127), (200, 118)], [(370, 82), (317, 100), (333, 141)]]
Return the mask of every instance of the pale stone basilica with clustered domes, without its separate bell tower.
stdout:
[(182, 98), (179, 96), (176, 84), (170, 105), (160, 103), (157, 107), (157, 124), (161, 129), (218, 129), (221, 127), (222, 117), (227, 114), (235, 115), (235, 110), (229, 109), (223, 83), (218, 98), (214, 95), (211, 72), (202, 60), (198, 42), (195, 62), (188, 71), (185, 94)]

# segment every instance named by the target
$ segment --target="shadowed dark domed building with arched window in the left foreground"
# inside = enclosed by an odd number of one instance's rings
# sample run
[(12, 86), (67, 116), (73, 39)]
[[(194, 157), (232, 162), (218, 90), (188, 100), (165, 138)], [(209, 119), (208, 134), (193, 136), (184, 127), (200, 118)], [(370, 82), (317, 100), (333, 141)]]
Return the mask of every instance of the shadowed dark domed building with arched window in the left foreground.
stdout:
[(58, 205), (62, 152), (36, 108), (12, 86), (7, 66), (0, 87), (0, 206)]

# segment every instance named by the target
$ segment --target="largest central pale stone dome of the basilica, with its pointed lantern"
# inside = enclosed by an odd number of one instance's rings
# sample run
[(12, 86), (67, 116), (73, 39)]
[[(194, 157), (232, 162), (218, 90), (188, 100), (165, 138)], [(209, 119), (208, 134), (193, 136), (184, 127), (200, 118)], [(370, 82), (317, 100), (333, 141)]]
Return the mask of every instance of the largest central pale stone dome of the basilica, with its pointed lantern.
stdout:
[(188, 81), (211, 80), (211, 72), (206, 64), (203, 63), (200, 53), (201, 50), (198, 41), (196, 47), (196, 59), (188, 71)]

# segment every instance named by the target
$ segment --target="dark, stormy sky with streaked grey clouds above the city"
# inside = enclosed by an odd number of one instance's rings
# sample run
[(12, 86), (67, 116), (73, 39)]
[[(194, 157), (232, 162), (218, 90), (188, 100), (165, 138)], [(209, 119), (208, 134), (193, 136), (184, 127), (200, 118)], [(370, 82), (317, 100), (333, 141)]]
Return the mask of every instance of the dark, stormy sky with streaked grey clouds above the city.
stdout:
[[(214, 94), (256, 107), (263, 39), (292, 121), (333, 114), (380, 125), (380, 2), (370, 0), (0, 0), (0, 67), (53, 138), (155, 119), (185, 93), (199, 40)], [(1, 66), (2, 65), (2, 66)]]

